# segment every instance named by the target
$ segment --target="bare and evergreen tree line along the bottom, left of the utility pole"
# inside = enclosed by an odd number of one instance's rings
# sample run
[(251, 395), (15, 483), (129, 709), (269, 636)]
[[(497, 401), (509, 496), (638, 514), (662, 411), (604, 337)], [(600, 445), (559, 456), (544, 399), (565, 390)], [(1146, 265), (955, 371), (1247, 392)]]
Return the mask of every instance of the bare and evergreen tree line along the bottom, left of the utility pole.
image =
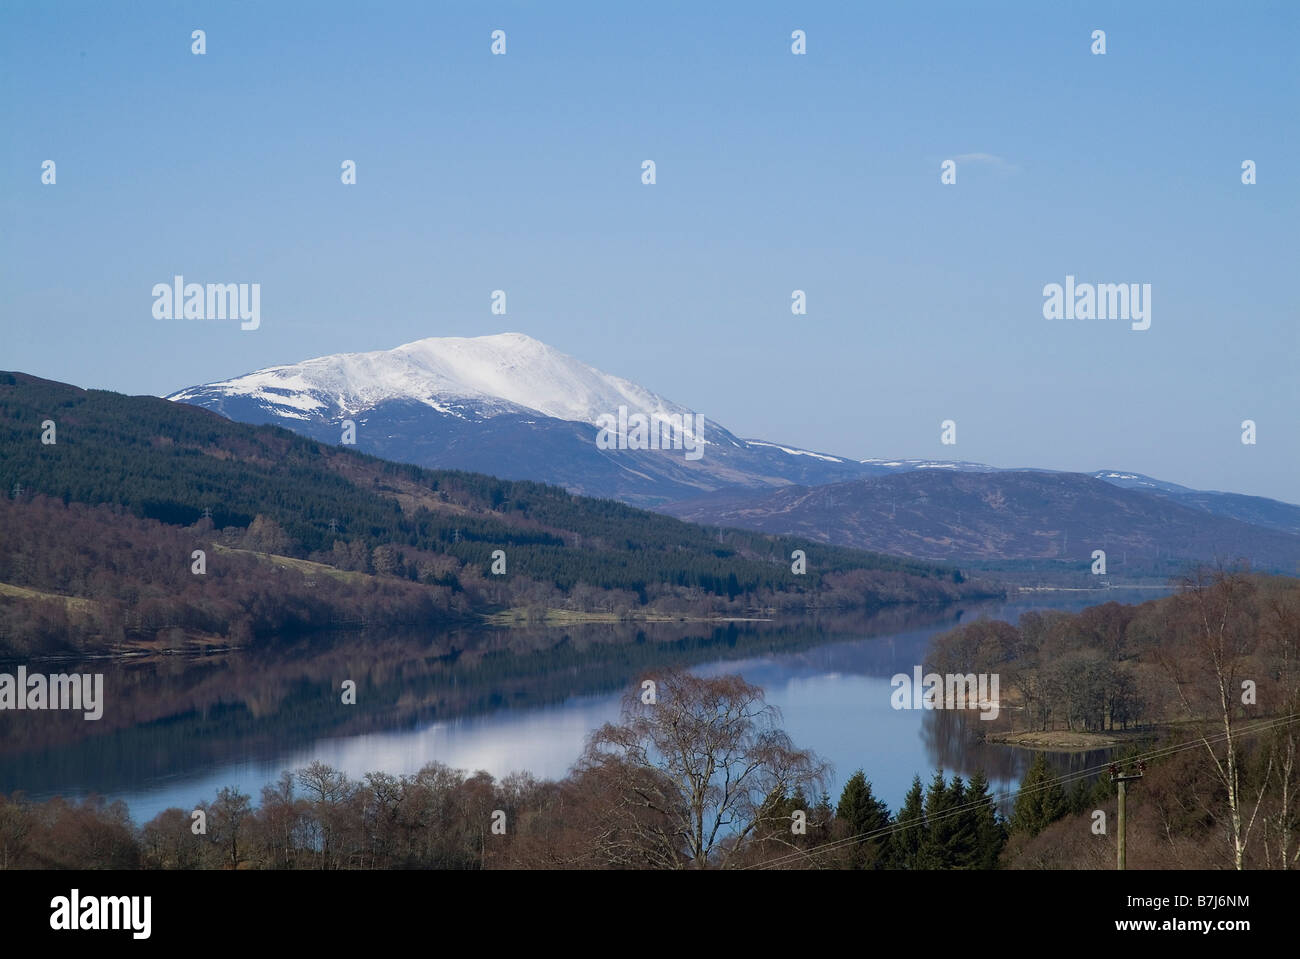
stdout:
[[(649, 693), (647, 693), (649, 690)], [(859, 769), (838, 803), (738, 676), (656, 674), (571, 773), (495, 780), (441, 763), (351, 778), (315, 761), (261, 789), (221, 789), (136, 828), (121, 803), (0, 798), (3, 868), (823, 868), (991, 869), (1008, 836), (1065, 812), (1031, 790), (1013, 816), (989, 784), (936, 771), (890, 813)], [(1031, 769), (1045, 774), (1045, 765)], [(719, 786), (725, 784), (724, 789)]]

